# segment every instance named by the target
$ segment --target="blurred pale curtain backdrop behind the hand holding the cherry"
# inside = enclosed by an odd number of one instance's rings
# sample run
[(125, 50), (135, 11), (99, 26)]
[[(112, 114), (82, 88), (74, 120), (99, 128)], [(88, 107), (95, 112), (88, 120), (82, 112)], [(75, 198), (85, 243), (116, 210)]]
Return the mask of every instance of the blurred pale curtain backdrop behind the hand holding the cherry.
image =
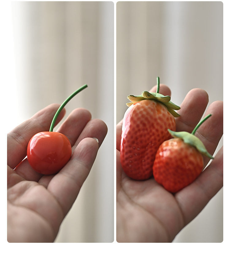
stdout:
[[(16, 80), (8, 131), (73, 91), (66, 105), (102, 119), (108, 134), (55, 242), (114, 240), (113, 2), (12, 2)], [(11, 86), (11, 85), (10, 85)]]

